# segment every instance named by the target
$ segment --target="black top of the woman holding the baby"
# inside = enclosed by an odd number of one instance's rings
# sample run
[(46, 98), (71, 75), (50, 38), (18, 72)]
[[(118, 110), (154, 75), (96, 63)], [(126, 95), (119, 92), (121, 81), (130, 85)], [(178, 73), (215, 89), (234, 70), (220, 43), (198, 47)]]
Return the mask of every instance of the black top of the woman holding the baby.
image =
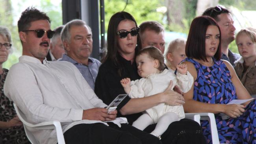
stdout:
[[(137, 65), (127, 61), (120, 55), (117, 56), (120, 61), (120, 65), (123, 67), (121, 76), (118, 74), (117, 66), (113, 64), (110, 59), (107, 59), (99, 68), (98, 76), (95, 81), (95, 93), (96, 95), (107, 105), (112, 102), (119, 94), (126, 94), (120, 81), (123, 78), (130, 78), (131, 81), (140, 79), (141, 77), (137, 73)], [(117, 107), (120, 110), (130, 98), (126, 97)], [(123, 116), (120, 112), (117, 113), (117, 117), (126, 117), (128, 122), (132, 124), (142, 113), (130, 114)]]

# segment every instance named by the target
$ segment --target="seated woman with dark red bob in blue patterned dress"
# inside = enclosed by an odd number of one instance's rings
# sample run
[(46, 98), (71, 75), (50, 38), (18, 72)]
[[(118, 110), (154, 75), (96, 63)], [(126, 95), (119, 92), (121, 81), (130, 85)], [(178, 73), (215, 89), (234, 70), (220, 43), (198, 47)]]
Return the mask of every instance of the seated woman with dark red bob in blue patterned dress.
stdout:
[[(186, 113), (214, 113), (221, 143), (256, 144), (255, 100), (227, 105), (234, 99), (252, 97), (237, 78), (232, 65), (220, 60), (220, 39), (220, 28), (212, 18), (201, 16), (192, 21), (184, 63), (195, 82), (184, 94), (184, 110)], [(222, 118), (220, 113), (230, 118)], [(211, 143), (208, 121), (202, 121), (201, 126)]]

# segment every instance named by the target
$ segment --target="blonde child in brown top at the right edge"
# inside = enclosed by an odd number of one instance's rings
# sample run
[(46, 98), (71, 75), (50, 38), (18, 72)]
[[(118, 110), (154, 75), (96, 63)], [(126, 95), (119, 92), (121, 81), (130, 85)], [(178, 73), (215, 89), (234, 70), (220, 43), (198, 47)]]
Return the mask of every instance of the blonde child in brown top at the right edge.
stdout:
[(252, 97), (256, 97), (256, 29), (245, 28), (236, 35), (236, 44), (242, 56), (235, 61), (235, 70)]

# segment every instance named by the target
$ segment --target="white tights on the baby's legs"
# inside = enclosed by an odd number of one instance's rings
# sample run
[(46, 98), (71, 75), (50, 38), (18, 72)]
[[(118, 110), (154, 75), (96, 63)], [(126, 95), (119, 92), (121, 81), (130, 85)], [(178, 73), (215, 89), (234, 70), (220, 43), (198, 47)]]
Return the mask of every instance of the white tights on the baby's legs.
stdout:
[[(158, 123), (156, 124), (156, 128), (150, 134), (156, 137), (161, 136), (168, 126), (172, 123), (178, 121), (178, 115), (173, 112), (168, 112), (163, 114), (159, 119)], [(137, 120), (134, 121), (132, 126), (136, 127), (137, 129), (144, 130), (150, 124), (154, 124), (153, 120), (150, 118), (148, 114), (142, 114)]]

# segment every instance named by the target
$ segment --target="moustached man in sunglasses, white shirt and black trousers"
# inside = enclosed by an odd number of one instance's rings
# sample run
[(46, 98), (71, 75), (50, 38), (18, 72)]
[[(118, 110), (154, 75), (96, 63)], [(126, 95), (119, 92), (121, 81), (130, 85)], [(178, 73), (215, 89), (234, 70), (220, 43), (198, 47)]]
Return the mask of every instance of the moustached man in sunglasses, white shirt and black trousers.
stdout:
[[(50, 38), (50, 18), (28, 7), (18, 21), (22, 56), (6, 77), (4, 93), (33, 124), (59, 121), (66, 144), (160, 144), (138, 131), (117, 110), (108, 113), (80, 71), (67, 61), (45, 59)], [(80, 36), (76, 37), (80, 39)], [(109, 122), (111, 121), (111, 122)], [(56, 144), (53, 129), (32, 131), (40, 144)]]

